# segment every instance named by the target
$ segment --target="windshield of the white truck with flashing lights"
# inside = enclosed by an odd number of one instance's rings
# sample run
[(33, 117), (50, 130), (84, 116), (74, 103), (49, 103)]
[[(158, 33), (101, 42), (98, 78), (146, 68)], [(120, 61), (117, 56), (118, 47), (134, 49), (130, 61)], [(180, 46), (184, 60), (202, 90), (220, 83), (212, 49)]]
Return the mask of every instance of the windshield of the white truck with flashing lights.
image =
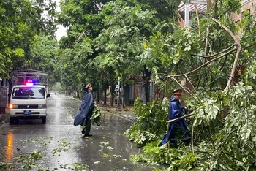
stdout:
[(17, 87), (12, 91), (12, 99), (45, 99), (45, 88)]

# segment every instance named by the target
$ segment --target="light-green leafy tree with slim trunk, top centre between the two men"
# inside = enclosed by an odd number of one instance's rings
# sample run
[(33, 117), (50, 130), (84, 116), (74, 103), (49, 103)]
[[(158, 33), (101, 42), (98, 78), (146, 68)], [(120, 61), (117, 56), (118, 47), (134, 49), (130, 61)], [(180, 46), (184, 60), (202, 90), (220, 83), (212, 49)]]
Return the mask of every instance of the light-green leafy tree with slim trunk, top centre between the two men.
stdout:
[[(97, 49), (102, 51), (97, 61), (113, 68), (116, 75), (121, 77), (121, 87), (124, 87), (127, 77), (141, 75), (143, 71), (145, 64), (140, 64), (136, 56), (142, 52), (143, 43), (157, 23), (157, 19), (154, 19), (156, 11), (143, 8), (134, 1), (111, 1), (100, 14), (105, 16), (102, 23), (106, 28), (94, 39)], [(121, 93), (124, 97), (124, 91)], [(122, 102), (124, 107), (124, 99)]]

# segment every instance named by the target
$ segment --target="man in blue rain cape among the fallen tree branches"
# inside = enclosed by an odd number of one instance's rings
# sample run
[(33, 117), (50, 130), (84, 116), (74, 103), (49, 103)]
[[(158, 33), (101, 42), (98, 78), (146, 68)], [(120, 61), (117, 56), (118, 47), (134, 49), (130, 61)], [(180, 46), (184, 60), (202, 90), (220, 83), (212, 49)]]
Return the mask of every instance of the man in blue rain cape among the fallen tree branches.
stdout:
[[(181, 99), (181, 93), (181, 89), (173, 91), (173, 97), (170, 99), (169, 121), (175, 118), (180, 118), (188, 112), (188, 110), (183, 107), (179, 101)], [(184, 118), (169, 123), (167, 134), (165, 134), (165, 137), (162, 139), (159, 146), (164, 145), (167, 142), (176, 145), (178, 140), (181, 140), (186, 144), (191, 142), (191, 134), (187, 128)]]

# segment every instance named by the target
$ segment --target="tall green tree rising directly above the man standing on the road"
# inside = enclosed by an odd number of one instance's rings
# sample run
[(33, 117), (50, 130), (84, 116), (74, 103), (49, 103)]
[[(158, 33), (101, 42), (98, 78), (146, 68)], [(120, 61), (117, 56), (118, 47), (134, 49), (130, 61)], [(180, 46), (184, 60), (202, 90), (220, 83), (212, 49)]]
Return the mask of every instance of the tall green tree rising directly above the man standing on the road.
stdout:
[[(89, 61), (99, 54), (94, 50), (92, 40), (103, 28), (99, 12), (105, 3), (105, 0), (61, 1), (58, 22), (68, 29), (67, 37), (62, 37), (59, 41), (58, 62), (59, 71), (63, 72), (62, 83), (66, 88), (81, 89), (91, 82), (94, 84), (94, 90), (97, 90), (104, 82), (101, 80), (104, 78), (104, 72), (89, 64)], [(72, 76), (65, 74), (67, 68), (73, 68)]]

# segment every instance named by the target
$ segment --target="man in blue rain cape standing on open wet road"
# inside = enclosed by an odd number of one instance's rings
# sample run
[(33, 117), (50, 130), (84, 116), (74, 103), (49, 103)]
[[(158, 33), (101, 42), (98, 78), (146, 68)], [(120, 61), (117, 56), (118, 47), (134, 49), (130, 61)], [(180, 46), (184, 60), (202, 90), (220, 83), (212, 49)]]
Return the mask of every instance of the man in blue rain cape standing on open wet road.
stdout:
[(92, 134), (90, 134), (91, 115), (93, 114), (94, 108), (96, 107), (91, 91), (92, 86), (91, 83), (89, 83), (84, 89), (83, 99), (80, 104), (79, 111), (77, 115), (75, 115), (74, 121), (75, 126), (82, 126), (82, 134), (84, 134), (86, 137), (92, 136)]

